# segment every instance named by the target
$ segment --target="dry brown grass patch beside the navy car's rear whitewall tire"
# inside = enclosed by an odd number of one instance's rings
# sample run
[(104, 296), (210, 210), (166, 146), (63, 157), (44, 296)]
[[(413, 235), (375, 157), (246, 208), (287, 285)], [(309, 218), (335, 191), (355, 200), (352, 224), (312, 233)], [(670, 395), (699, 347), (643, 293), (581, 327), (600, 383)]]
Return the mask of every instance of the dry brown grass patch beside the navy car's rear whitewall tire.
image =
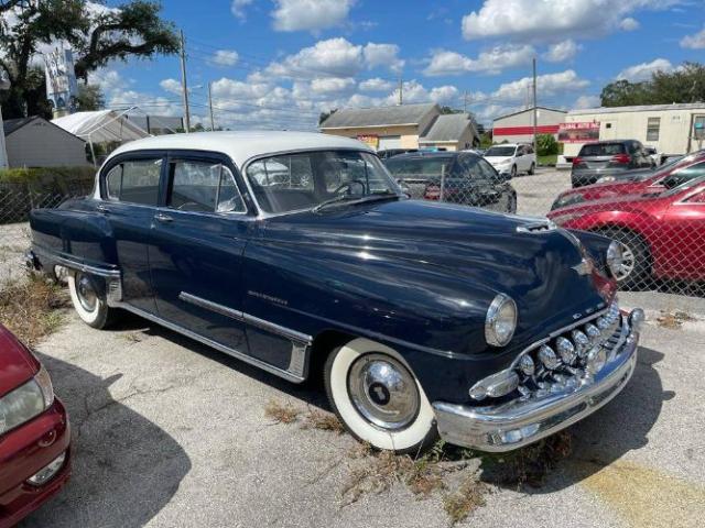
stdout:
[(0, 285), (0, 321), (29, 346), (62, 326), (66, 306), (66, 292), (40, 275)]

